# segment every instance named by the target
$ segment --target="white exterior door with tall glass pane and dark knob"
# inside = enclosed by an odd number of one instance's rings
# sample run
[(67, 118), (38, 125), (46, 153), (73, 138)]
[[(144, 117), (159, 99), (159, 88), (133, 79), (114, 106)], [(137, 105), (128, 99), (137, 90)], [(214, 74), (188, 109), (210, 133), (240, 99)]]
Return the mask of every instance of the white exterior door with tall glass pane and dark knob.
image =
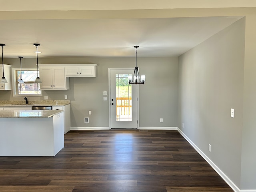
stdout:
[(109, 108), (111, 129), (138, 128), (138, 86), (129, 85), (133, 68), (109, 68)]

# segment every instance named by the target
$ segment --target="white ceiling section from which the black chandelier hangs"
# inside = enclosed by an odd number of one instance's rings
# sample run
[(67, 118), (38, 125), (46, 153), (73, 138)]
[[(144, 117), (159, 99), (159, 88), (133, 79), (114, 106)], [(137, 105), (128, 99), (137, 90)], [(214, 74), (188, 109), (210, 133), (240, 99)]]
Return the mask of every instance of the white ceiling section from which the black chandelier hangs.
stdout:
[(179, 56), (241, 17), (0, 20), (4, 58)]

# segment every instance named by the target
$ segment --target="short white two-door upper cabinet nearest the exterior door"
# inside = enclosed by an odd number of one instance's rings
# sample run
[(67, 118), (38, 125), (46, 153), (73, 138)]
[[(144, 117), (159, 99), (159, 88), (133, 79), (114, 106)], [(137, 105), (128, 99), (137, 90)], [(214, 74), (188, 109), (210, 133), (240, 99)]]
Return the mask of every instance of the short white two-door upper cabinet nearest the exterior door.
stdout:
[(65, 66), (66, 77), (96, 77), (97, 64), (70, 64)]

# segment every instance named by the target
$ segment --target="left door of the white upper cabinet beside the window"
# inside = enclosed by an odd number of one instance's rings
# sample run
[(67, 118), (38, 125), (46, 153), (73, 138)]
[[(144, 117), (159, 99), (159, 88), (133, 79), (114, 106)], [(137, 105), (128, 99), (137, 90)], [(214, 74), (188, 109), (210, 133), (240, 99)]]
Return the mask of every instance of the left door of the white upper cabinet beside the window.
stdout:
[(52, 68), (40, 68), (40, 79), (42, 81), (40, 89), (52, 89)]

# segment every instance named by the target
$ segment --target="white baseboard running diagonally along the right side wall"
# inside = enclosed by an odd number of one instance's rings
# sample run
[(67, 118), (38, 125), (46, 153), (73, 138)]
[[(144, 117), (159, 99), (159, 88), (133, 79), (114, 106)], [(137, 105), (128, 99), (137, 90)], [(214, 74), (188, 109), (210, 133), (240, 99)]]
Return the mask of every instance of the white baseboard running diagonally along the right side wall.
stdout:
[(230, 186), (230, 188), (234, 190), (234, 192), (256, 192), (255, 190), (240, 190), (238, 186), (236, 186), (236, 184), (234, 184), (234, 182), (232, 182), (232, 180), (228, 176), (226, 176), (226, 174), (224, 174), (224, 172), (222, 172), (222, 170), (218, 168), (218, 166), (216, 166), (216, 164), (214, 164), (214, 162), (212, 162), (212, 160), (210, 160), (210, 158), (208, 158), (208, 156), (206, 156), (206, 154), (204, 154), (204, 152), (202, 152), (200, 148), (198, 148), (179, 128), (178, 132), (180, 132), (180, 134), (182, 134), (182, 136), (190, 143), (190, 145), (192, 145), (192, 147), (194, 147), (194, 149), (204, 158), (204, 160), (206, 160), (206, 162), (208, 162), (208, 164), (212, 166), (212, 168)]

